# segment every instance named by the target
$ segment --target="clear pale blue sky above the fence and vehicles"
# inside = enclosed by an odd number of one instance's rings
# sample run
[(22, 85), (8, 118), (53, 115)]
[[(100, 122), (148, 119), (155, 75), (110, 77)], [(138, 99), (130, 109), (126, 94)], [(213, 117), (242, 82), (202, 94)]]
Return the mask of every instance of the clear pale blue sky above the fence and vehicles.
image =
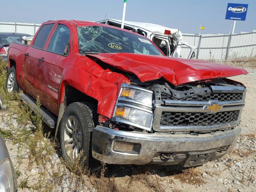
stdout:
[[(47, 20), (98, 21), (122, 19), (123, 0), (1, 0), (0, 22), (42, 23)], [(256, 0), (127, 0), (125, 20), (150, 22), (182, 33), (228, 34), (228, 3), (248, 4), (246, 21), (237, 21), (235, 33), (256, 30)], [(107, 14), (107, 15), (106, 15)]]

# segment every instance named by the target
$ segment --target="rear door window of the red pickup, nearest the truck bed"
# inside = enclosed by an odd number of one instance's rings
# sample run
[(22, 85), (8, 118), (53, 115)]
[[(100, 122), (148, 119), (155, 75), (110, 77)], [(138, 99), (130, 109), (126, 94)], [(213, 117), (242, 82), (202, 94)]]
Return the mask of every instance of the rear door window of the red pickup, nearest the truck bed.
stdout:
[(42, 28), (38, 32), (36, 39), (34, 41), (34, 44), (33, 44), (34, 47), (40, 48), (40, 49), (44, 48), (46, 39), (49, 36), (53, 26), (54, 26), (54, 24), (46, 24), (46, 25), (42, 26)]

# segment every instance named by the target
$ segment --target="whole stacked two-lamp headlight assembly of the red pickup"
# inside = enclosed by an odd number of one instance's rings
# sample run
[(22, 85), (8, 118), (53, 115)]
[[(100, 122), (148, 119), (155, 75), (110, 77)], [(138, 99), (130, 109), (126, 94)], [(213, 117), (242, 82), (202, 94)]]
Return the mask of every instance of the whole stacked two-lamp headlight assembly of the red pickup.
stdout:
[(151, 131), (152, 97), (153, 92), (150, 90), (122, 84), (112, 121)]

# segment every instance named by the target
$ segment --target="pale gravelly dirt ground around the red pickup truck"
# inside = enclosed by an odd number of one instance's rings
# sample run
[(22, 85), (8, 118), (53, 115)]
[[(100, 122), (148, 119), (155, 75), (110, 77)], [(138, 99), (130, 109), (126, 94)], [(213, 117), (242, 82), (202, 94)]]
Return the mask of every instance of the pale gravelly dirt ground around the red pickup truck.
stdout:
[[(234, 150), (219, 160), (208, 162), (203, 166), (189, 169), (180, 169), (176, 166), (122, 166), (108, 165), (101, 180), (96, 180), (98, 184), (107, 180), (106, 188), (102, 184), (101, 188), (97, 183), (88, 182), (86, 190), (82, 191), (133, 191), (133, 192), (253, 192), (256, 191), (256, 68), (247, 67), (248, 64), (230, 65), (246, 66), (248, 75), (232, 77), (232, 79), (242, 82), (247, 87), (246, 106), (242, 114), (242, 133)], [(255, 60), (252, 62), (255, 65)], [(252, 66), (251, 64), (249, 66)], [(0, 111), (1, 116), (5, 116), (6, 111)], [(15, 118), (14, 118), (15, 120)], [(0, 128), (4, 129), (6, 123), (2, 119)], [(33, 185), (38, 180), (38, 167), (32, 165), (28, 170), (28, 155), (22, 158), (20, 164), (19, 153), (27, 154), (26, 149), (18, 151), (15, 144), (6, 139), (6, 144), (12, 156), (15, 167), (19, 167), (20, 176), (18, 178), (19, 191), (32, 191), (27, 186)], [(59, 158), (56, 150), (56, 159)], [(30, 165), (31, 166), (31, 165)], [(49, 167), (50, 169), (50, 167)], [(26, 185), (22, 182), (27, 179)], [(90, 179), (89, 179), (90, 180)], [(90, 180), (91, 181), (91, 180)], [(23, 183), (24, 184), (24, 183)], [(109, 185), (113, 186), (109, 186)], [(64, 184), (68, 185), (68, 184)], [(108, 185), (108, 186), (107, 186)], [(23, 190), (22, 190), (23, 187)], [(66, 186), (68, 188), (68, 186)], [(36, 190), (34, 190), (36, 191)], [(43, 190), (42, 190), (43, 191)], [(56, 191), (69, 191), (65, 186)], [(76, 191), (76, 190), (71, 190)]]

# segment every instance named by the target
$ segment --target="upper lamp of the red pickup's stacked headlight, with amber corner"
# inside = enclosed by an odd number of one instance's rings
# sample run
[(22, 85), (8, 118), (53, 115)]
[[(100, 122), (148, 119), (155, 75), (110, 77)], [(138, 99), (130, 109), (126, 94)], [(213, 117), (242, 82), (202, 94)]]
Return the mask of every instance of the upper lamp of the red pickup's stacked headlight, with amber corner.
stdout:
[(152, 92), (137, 90), (133, 88), (122, 88), (120, 98), (126, 98), (152, 106)]

